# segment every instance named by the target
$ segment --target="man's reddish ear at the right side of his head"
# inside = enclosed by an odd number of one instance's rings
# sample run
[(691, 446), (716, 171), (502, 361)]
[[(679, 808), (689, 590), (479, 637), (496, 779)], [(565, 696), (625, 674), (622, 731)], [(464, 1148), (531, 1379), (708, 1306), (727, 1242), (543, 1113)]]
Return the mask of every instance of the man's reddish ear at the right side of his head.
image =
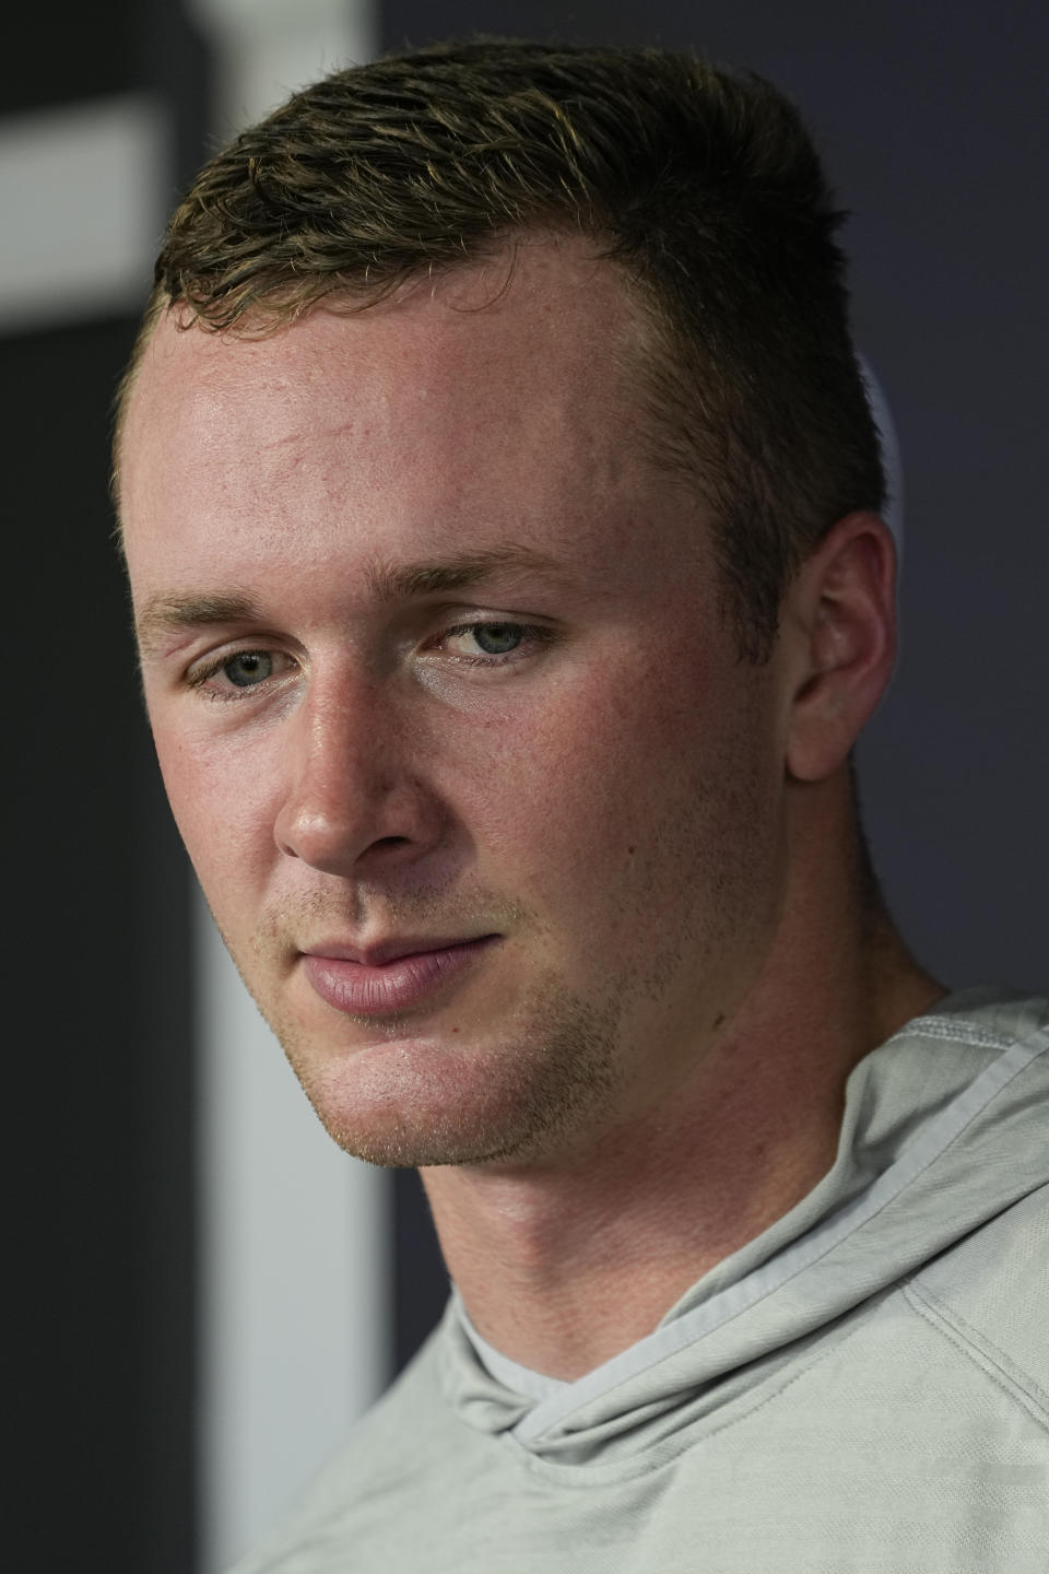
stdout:
[(896, 549), (876, 513), (838, 519), (782, 608), (790, 672), (786, 773), (816, 782), (848, 757), (896, 656)]

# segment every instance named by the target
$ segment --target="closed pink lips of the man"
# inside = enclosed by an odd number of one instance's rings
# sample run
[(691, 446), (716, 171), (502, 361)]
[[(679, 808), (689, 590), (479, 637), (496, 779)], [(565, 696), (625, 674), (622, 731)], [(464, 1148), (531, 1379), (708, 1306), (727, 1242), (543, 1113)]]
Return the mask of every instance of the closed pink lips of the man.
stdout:
[[(502, 935), (450, 941), (428, 951), (404, 952), (412, 941), (390, 941), (370, 951), (321, 944), (302, 955), (310, 984), (329, 1006), (351, 1015), (379, 1017), (404, 1011), (453, 976), (470, 968)], [(432, 941), (429, 943), (432, 946)], [(385, 951), (387, 960), (376, 962)], [(359, 962), (355, 957), (368, 957)]]

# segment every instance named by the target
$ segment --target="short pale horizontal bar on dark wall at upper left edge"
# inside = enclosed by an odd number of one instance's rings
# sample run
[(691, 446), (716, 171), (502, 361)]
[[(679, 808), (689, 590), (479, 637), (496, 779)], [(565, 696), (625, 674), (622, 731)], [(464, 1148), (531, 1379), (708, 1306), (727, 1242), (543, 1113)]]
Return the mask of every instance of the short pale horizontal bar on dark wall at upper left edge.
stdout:
[(123, 94), (0, 121), (0, 332), (134, 313), (164, 227), (168, 121)]

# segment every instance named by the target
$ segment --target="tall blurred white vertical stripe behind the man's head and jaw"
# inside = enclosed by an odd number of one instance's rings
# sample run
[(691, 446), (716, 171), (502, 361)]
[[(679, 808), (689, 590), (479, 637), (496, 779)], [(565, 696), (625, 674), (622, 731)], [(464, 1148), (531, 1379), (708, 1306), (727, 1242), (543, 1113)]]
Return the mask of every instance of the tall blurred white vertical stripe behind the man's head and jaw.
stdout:
[[(192, 0), (222, 137), (374, 54), (370, 0)], [(321, 1129), (197, 900), (200, 1574), (259, 1539), (392, 1373), (390, 1176)]]

